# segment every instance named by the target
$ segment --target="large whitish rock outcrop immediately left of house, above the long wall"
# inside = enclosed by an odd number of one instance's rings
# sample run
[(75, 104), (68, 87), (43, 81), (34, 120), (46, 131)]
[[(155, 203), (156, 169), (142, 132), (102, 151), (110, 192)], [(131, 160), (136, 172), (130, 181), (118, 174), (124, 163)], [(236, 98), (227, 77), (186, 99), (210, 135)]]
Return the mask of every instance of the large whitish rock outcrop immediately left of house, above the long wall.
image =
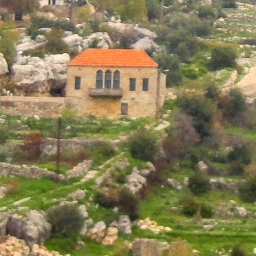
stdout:
[(39, 57), (18, 55), (12, 66), (16, 88), (26, 93), (49, 93), (64, 90), (67, 78), (67, 53)]

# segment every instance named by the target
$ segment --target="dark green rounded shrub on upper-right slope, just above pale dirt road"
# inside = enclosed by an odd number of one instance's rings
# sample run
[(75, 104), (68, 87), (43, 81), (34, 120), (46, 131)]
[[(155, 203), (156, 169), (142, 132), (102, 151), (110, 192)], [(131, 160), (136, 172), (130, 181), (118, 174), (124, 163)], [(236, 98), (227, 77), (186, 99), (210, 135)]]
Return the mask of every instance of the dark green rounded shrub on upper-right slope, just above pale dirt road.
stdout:
[(212, 50), (209, 66), (212, 68), (212, 70), (236, 68), (236, 51), (226, 46), (214, 48)]

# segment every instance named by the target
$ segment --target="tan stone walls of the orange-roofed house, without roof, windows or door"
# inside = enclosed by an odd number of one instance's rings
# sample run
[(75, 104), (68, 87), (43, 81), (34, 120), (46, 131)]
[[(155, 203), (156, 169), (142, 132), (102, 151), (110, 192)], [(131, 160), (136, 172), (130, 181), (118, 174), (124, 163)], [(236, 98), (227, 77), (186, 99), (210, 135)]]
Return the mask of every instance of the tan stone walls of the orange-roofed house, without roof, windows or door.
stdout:
[[(96, 73), (110, 70), (120, 72), (119, 90), (93, 90), (96, 87)], [(81, 77), (81, 89), (75, 90), (75, 77)], [(136, 78), (136, 90), (130, 91), (130, 78)], [(142, 90), (143, 78), (149, 79), (148, 91)], [(112, 78), (113, 79), (113, 78)], [(98, 91), (98, 95), (96, 95)], [(118, 91), (118, 92), (115, 92)], [(111, 94), (113, 92), (113, 95)], [(106, 95), (109, 93), (109, 95)], [(116, 94), (114, 94), (116, 93)], [(118, 94), (119, 93), (119, 94)], [(156, 67), (101, 67), (101, 66), (69, 66), (66, 97), (70, 102), (76, 102), (78, 113), (82, 116), (122, 116), (122, 103), (128, 104), (128, 116), (156, 116), (164, 104), (165, 75), (158, 74)]]

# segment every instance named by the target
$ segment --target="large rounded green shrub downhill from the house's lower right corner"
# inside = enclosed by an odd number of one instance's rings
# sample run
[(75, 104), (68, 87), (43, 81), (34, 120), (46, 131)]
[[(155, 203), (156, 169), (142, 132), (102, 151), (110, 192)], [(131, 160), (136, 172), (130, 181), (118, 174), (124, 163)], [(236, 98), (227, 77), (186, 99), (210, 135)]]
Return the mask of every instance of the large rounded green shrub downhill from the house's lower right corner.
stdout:
[(140, 128), (130, 136), (129, 150), (133, 158), (152, 162), (157, 153), (156, 137), (145, 128)]

